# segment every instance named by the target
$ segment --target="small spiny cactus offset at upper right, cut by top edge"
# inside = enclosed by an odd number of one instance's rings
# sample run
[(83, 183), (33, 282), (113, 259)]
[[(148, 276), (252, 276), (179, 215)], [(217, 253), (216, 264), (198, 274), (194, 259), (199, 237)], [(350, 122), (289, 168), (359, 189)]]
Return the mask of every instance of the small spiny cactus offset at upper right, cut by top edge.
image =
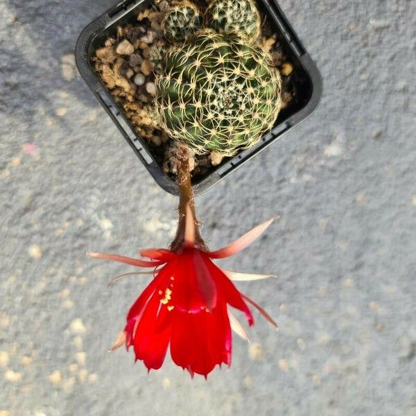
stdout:
[(219, 33), (236, 33), (255, 42), (261, 29), (259, 10), (252, 0), (214, 0), (205, 12), (205, 24)]

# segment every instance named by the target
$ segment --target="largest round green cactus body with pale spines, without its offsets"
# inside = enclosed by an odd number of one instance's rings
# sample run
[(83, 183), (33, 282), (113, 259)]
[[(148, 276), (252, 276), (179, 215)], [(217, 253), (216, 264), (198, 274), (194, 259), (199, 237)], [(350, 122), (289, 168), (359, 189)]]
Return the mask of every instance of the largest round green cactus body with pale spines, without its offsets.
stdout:
[(268, 53), (234, 33), (201, 29), (171, 47), (155, 82), (162, 127), (198, 154), (251, 147), (281, 106)]

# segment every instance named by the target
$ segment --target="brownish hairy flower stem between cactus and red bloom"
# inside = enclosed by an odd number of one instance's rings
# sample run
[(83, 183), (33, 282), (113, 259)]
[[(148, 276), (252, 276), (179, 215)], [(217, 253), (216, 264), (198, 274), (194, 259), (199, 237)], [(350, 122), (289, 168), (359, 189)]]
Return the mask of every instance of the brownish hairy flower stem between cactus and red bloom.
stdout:
[(195, 199), (191, 184), (191, 172), (189, 171), (189, 150), (181, 146), (177, 155), (178, 168), (176, 184), (179, 190), (179, 212), (177, 232), (171, 244), (171, 250), (182, 252), (184, 248), (196, 247), (207, 250), (199, 231), (199, 221), (196, 218)]

